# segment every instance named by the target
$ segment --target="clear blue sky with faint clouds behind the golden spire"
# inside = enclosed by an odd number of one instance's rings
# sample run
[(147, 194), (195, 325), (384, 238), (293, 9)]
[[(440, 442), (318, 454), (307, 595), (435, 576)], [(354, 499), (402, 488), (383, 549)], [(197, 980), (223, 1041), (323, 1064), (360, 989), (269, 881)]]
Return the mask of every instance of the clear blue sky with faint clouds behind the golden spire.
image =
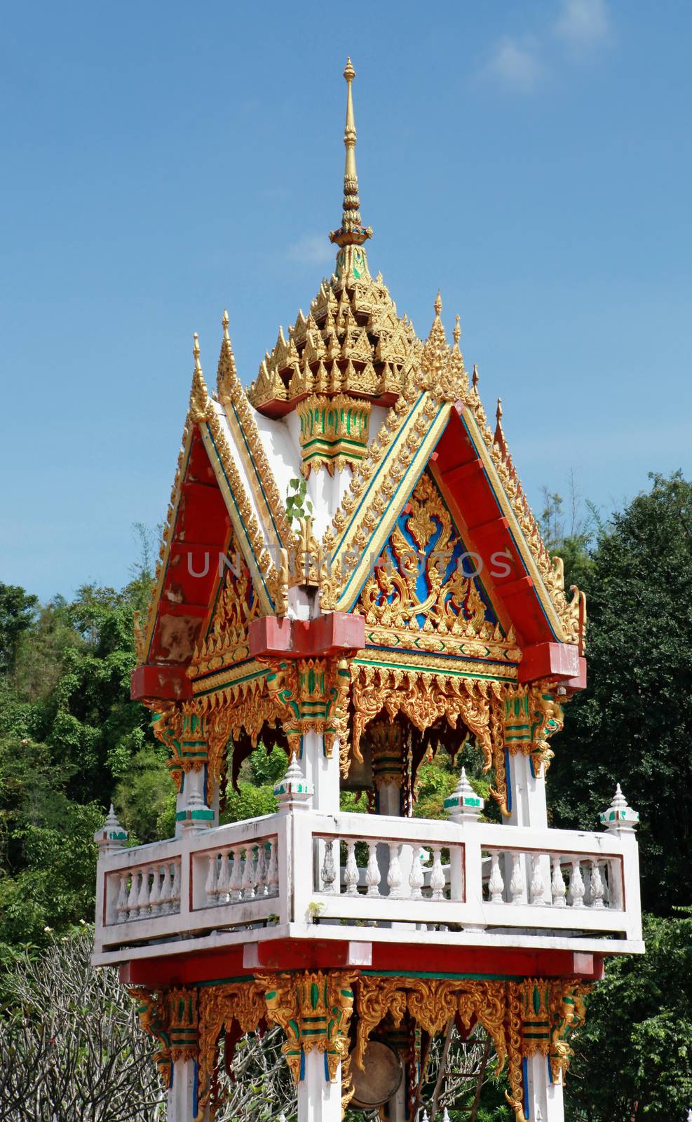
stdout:
[(246, 383), (329, 275), (345, 55), (371, 269), (478, 362), (535, 507), (692, 473), (688, 0), (7, 7), (0, 580), (119, 586), (221, 316)]

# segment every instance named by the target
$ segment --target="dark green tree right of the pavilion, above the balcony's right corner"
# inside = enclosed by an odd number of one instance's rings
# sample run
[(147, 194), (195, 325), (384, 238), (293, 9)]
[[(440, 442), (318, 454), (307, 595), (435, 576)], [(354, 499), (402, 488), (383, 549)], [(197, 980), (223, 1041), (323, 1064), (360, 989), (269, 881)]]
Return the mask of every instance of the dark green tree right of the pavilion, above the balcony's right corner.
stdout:
[(593, 551), (589, 687), (566, 707), (547, 792), (554, 825), (592, 829), (622, 783), (645, 907), (662, 914), (692, 886), (692, 486), (652, 480)]

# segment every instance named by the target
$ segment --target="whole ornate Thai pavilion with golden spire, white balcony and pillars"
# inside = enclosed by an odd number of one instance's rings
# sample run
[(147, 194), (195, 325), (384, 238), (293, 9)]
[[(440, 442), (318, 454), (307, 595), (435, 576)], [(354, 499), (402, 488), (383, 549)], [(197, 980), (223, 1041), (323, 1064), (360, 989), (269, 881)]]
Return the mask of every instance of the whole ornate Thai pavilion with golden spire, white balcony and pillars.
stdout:
[[(249, 389), (228, 315), (215, 389), (195, 337), (132, 674), (176, 837), (127, 847), (112, 812), (98, 833), (94, 963), (120, 966), (157, 1042), (169, 1122), (212, 1120), (220, 1065), (271, 1026), (298, 1122), (349, 1103), (413, 1122), (451, 1024), (491, 1037), (518, 1120), (562, 1122), (588, 992), (606, 956), (643, 950), (637, 816), (618, 788), (597, 833), (548, 829), (584, 597), (565, 595), (499, 406), (488, 424), (459, 316), (450, 343), (437, 296), (419, 339), (370, 272), (350, 59), (344, 77), (333, 275)], [(286, 752), (278, 809), (220, 826), (259, 744)], [(464, 745), (495, 808), (460, 770), (445, 819), (414, 817), (422, 762)]]

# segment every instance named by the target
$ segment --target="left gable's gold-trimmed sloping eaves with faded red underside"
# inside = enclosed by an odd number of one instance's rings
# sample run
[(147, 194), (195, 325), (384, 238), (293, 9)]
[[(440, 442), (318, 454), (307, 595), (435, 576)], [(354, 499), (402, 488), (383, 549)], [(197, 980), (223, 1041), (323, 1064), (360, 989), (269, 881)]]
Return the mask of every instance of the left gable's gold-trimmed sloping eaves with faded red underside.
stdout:
[(283, 614), (286, 608), (279, 565), (290, 530), (256, 426), (243, 416), (234, 377), (224, 331), (220, 383), (229, 419), (207, 393), (195, 341), (190, 411), (159, 563), (146, 625), (136, 634), (140, 669), (144, 664), (153, 671), (166, 666), (181, 672), (136, 674), (133, 696), (190, 695), (184, 670), (205, 634), (203, 624), (209, 625), (229, 553), (242, 558), (258, 610)]

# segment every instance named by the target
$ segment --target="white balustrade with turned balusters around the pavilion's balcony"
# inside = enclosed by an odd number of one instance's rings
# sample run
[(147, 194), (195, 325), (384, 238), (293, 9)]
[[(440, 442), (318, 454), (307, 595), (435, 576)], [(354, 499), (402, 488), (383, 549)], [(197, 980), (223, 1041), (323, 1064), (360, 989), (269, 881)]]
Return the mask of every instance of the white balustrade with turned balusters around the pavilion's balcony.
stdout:
[(642, 938), (631, 833), (302, 808), (111, 852), (99, 868), (103, 962), (162, 945), (181, 954), (314, 938), (314, 925), (357, 942), (363, 927), (367, 940), (400, 941), (410, 926), (448, 944), (482, 932), (483, 942), (511, 946), (514, 934), (517, 946), (555, 938), (585, 953)]

